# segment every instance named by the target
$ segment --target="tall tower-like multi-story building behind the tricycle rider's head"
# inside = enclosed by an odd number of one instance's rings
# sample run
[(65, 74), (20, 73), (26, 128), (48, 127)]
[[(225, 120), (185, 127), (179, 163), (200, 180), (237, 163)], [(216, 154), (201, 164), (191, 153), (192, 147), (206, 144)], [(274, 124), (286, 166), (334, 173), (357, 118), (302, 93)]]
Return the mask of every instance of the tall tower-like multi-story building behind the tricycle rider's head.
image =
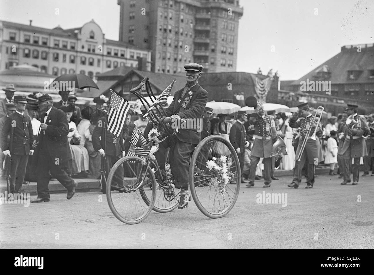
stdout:
[(189, 62), (204, 72), (236, 71), (238, 0), (117, 0), (119, 40), (152, 51), (152, 71), (178, 73)]

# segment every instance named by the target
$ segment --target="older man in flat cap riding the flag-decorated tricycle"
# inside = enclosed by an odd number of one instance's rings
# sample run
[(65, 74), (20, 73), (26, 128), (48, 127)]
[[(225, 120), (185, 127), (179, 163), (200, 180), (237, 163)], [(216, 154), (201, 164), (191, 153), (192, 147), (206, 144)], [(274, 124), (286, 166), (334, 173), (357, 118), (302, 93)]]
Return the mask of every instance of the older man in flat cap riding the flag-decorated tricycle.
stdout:
[[(172, 120), (199, 119), (201, 118), (208, 92), (198, 83), (202, 75), (203, 66), (196, 63), (184, 65), (187, 84), (174, 94), (170, 106), (163, 111), (166, 117)], [(179, 129), (176, 135), (169, 138), (169, 162), (171, 172), (175, 179), (175, 187), (181, 188), (181, 197), (178, 209), (188, 205), (188, 178), (190, 169), (191, 152), (201, 140), (201, 134), (197, 129)]]

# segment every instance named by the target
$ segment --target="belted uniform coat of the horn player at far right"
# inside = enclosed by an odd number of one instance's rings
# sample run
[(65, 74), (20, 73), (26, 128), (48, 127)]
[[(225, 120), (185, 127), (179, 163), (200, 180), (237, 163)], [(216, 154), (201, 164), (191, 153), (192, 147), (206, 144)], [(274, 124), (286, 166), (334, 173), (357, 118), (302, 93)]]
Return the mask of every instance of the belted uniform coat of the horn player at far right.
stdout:
[[(353, 134), (352, 129), (357, 129), (357, 133)], [(360, 117), (355, 114), (350, 124), (344, 129), (344, 143), (341, 148), (341, 154), (343, 155), (347, 149), (350, 148), (350, 157), (359, 158), (368, 155), (366, 142), (364, 137), (370, 134), (370, 128), (364, 117)]]

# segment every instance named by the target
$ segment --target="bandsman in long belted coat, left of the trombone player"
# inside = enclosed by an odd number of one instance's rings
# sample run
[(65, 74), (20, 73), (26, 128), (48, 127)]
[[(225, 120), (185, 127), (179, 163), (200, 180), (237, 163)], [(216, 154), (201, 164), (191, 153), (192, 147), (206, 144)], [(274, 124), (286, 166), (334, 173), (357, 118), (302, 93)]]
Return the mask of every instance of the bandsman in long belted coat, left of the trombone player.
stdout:
[(262, 103), (257, 103), (255, 113), (251, 114), (249, 121), (253, 125), (249, 126), (249, 133), (253, 134), (254, 142), (251, 151), (251, 168), (249, 172), (249, 182), (246, 187), (255, 185), (256, 166), (260, 158), (263, 158), (265, 184), (263, 187), (270, 187), (271, 172), (272, 172), (272, 154), (273, 140), (277, 137), (275, 129), (274, 117), (272, 115), (265, 115)]

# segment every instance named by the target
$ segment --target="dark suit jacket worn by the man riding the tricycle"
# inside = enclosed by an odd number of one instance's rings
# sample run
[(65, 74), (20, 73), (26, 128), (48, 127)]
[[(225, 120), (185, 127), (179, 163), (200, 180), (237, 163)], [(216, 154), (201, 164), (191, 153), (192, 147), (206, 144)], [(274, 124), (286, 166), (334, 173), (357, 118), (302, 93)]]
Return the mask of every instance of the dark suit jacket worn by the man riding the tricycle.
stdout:
[[(181, 94), (183, 93), (183, 88), (176, 91), (174, 94), (174, 99), (170, 106), (163, 111), (166, 117), (170, 117), (173, 114), (179, 115), (181, 118), (195, 118), (196, 120), (201, 118), (206, 101), (208, 100), (208, 92), (205, 91), (199, 83), (197, 83), (191, 89), (186, 91), (181, 102), (178, 103)], [(192, 91), (192, 95), (188, 94), (189, 91)], [(187, 105), (185, 110), (181, 110), (181, 105), (184, 102), (184, 98), (191, 96), (191, 100)], [(197, 129), (179, 129), (177, 137), (182, 142), (198, 144), (201, 140), (201, 132), (197, 132)]]

